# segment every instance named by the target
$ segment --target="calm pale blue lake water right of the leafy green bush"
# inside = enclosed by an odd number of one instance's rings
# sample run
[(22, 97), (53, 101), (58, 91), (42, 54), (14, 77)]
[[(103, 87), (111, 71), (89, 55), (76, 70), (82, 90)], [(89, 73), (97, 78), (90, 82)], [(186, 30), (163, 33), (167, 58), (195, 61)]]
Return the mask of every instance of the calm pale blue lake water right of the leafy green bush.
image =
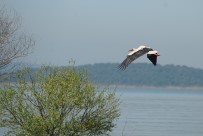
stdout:
[(203, 90), (117, 89), (113, 136), (203, 136)]

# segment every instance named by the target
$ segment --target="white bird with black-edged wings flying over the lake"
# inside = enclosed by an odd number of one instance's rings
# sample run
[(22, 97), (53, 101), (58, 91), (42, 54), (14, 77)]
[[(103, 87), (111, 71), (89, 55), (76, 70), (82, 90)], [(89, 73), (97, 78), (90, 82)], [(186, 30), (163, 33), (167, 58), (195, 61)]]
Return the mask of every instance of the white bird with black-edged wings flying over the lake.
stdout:
[(147, 58), (154, 64), (156, 65), (157, 63), (157, 56), (160, 56), (158, 51), (153, 50), (150, 47), (146, 47), (144, 45), (139, 46), (138, 48), (132, 48), (129, 50), (129, 53), (126, 57), (126, 59), (119, 65), (119, 68), (121, 70), (125, 70), (128, 65), (139, 58), (140, 56), (144, 55), (147, 53)]

